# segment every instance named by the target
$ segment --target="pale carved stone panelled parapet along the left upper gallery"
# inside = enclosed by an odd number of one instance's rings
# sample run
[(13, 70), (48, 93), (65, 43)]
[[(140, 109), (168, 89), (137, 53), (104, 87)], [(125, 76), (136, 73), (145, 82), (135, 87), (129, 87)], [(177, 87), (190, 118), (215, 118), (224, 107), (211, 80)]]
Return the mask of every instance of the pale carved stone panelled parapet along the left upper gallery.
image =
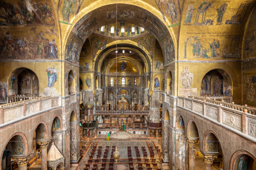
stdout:
[(22, 117), (37, 114), (61, 105), (59, 97), (38, 97), (30, 100), (0, 105), (0, 124), (19, 120)]

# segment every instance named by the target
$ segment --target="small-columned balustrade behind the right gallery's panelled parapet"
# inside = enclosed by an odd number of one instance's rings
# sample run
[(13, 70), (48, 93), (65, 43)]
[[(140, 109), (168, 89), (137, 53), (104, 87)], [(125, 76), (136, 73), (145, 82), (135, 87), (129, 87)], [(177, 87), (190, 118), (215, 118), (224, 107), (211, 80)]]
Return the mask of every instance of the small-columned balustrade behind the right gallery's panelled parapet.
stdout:
[[(192, 98), (192, 97), (189, 97), (189, 98)], [(223, 102), (223, 101), (218, 101), (218, 100), (212, 100), (212, 99), (205, 98), (205, 97), (194, 97), (194, 99), (209, 102), (209, 103), (216, 104), (216, 105), (222, 104), (225, 107), (232, 108), (232, 109), (235, 109), (235, 110), (239, 110), (239, 111), (242, 111), (242, 112), (245, 109), (247, 109), (248, 113), (250, 113), (252, 115), (256, 115), (256, 108), (247, 107), (247, 105), (246, 106), (241, 106), (241, 105), (234, 104), (234, 102), (228, 103), (228, 102)]]

